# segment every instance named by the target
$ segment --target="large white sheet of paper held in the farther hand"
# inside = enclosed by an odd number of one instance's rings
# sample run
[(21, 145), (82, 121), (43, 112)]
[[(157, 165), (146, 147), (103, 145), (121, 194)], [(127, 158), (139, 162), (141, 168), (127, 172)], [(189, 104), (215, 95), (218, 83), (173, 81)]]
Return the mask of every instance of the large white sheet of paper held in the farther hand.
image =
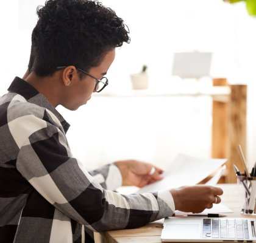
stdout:
[(163, 180), (141, 188), (137, 193), (150, 193), (160, 190), (196, 185), (210, 176), (226, 159), (198, 159), (179, 154), (163, 173)]

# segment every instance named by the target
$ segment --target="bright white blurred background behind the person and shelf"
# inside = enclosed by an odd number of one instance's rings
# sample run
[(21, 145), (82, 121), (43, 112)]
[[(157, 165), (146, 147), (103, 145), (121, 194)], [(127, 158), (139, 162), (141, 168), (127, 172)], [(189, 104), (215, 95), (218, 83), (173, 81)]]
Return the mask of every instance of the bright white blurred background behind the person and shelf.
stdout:
[[(1, 0), (0, 95), (29, 63), (37, 5), (43, 0)], [(149, 90), (188, 92), (212, 86), (212, 78), (247, 84), (246, 159), (256, 160), (256, 18), (244, 2), (222, 0), (102, 0), (130, 29), (130, 44), (116, 50), (106, 77), (109, 85), (77, 111), (57, 110), (71, 124), (67, 133), (74, 156), (87, 169), (123, 159), (151, 162), (165, 169), (180, 152), (212, 156), (212, 97), (209, 95), (138, 96), (131, 74), (149, 78)], [(176, 52), (211, 52), (210, 75), (199, 80), (172, 76)], [(176, 92), (176, 91), (175, 91)], [(197, 92), (197, 91), (196, 91)], [(81, 129), (82, 127), (82, 129)]]

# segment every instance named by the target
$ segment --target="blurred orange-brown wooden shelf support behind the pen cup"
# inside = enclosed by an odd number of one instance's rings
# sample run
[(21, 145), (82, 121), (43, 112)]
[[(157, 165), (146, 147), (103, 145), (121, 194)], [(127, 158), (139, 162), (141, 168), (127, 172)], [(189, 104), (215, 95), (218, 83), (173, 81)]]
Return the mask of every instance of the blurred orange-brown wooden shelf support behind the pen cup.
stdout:
[[(213, 86), (226, 86), (226, 78), (213, 79)], [(233, 163), (244, 171), (238, 154), (241, 145), (246, 156), (246, 85), (231, 85), (228, 102), (213, 100), (212, 157), (228, 159), (227, 173), (222, 183), (236, 183)]]

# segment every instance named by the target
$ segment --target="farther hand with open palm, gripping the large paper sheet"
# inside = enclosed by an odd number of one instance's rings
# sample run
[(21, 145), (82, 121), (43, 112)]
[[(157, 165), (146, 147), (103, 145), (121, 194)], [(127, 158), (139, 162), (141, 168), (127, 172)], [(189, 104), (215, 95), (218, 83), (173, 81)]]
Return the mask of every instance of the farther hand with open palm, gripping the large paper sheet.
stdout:
[[(162, 180), (163, 177), (160, 174), (163, 173), (162, 169), (159, 169), (150, 163), (144, 163), (137, 160), (123, 160), (114, 163), (118, 166), (123, 177), (123, 184), (133, 185), (136, 187), (144, 187), (150, 183)], [(150, 175), (152, 167), (155, 167), (155, 172)]]

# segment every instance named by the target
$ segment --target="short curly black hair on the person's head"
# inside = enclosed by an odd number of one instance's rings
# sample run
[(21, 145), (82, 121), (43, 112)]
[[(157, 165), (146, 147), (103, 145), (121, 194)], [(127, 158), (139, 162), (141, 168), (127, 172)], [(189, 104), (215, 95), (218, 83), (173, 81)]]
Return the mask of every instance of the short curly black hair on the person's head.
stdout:
[[(130, 43), (123, 19), (99, 1), (48, 0), (37, 7), (37, 15), (29, 72), (39, 77), (54, 74), (57, 66), (88, 72), (109, 50)], [(82, 72), (79, 75), (84, 77)]]

